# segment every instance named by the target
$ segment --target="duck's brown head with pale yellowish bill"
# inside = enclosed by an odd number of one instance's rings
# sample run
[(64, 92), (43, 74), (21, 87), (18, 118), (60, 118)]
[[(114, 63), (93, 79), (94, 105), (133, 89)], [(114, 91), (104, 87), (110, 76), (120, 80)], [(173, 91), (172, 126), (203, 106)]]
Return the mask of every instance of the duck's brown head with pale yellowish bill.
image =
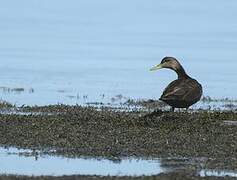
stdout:
[(172, 69), (177, 72), (182, 68), (182, 66), (180, 65), (179, 61), (177, 59), (175, 59), (174, 57), (164, 57), (161, 60), (161, 63), (153, 66), (150, 69), (150, 71), (155, 71), (155, 70), (162, 69), (162, 68)]

